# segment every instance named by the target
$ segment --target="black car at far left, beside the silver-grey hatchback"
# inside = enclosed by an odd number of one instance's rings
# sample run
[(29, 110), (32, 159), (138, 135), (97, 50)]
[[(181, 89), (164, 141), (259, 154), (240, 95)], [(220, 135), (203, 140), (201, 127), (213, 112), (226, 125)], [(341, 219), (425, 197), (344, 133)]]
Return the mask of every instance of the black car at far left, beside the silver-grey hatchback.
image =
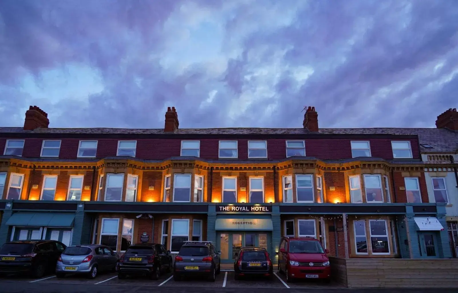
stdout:
[(64, 243), (55, 240), (12, 241), (0, 249), (0, 274), (29, 273), (41, 278), (54, 273)]

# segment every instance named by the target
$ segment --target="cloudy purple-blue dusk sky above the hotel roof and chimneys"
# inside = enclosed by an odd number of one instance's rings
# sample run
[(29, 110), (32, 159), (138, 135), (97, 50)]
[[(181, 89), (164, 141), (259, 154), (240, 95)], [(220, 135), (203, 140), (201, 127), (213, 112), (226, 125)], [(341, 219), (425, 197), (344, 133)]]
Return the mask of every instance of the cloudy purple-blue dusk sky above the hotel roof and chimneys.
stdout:
[(458, 2), (1, 0), (0, 125), (434, 127), (458, 106)]

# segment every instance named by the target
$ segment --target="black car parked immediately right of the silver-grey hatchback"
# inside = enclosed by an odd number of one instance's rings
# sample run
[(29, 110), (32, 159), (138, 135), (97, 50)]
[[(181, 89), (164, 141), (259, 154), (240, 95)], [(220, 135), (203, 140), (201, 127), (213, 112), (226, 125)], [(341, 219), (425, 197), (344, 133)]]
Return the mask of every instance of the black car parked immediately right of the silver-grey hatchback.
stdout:
[(147, 275), (153, 280), (172, 269), (172, 256), (162, 244), (131, 245), (121, 255), (118, 266), (118, 279), (127, 275)]

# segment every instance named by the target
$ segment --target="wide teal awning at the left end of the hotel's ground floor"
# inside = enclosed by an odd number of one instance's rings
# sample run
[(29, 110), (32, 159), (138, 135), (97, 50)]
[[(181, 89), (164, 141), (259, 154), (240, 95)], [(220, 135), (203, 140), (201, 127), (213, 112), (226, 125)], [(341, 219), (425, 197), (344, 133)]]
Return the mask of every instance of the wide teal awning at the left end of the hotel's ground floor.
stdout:
[(8, 226), (25, 227), (72, 227), (74, 213), (17, 212), (6, 221)]

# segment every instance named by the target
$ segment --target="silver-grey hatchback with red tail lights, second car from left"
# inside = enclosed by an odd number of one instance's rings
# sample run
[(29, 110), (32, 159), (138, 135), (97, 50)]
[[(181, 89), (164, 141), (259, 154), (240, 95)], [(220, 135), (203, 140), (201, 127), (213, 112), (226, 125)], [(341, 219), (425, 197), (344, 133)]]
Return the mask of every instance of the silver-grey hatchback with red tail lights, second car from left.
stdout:
[(67, 247), (56, 265), (56, 276), (67, 273), (85, 274), (94, 279), (99, 272), (116, 271), (119, 256), (108, 246), (99, 244), (75, 245)]

